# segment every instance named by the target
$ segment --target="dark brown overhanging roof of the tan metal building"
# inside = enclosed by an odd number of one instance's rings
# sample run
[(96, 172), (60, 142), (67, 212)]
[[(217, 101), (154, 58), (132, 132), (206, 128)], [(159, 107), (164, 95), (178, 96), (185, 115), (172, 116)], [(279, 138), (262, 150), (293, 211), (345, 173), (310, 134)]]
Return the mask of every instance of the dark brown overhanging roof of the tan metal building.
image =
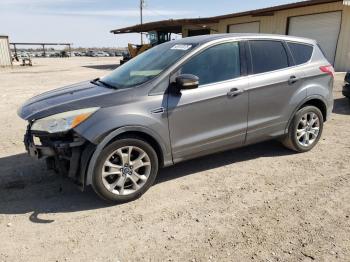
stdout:
[(333, 3), (333, 2), (340, 2), (340, 1), (342, 0), (308, 0), (308, 1), (278, 5), (273, 7), (239, 12), (239, 13), (231, 13), (227, 15), (214, 16), (214, 17), (162, 20), (162, 21), (155, 21), (155, 22), (138, 24), (134, 26), (111, 30), (111, 33), (123, 34), (123, 33), (141, 33), (141, 32), (149, 32), (149, 31), (165, 31), (169, 33), (181, 33), (182, 26), (184, 25), (198, 25), (198, 28), (205, 29), (206, 27), (209, 27), (208, 24), (218, 23), (222, 19), (240, 17), (240, 16), (246, 16), (246, 15), (269, 16), (269, 15), (273, 15), (273, 13), (276, 11), (307, 7), (307, 6), (313, 6), (313, 5), (319, 5), (319, 4), (326, 4), (326, 3)]

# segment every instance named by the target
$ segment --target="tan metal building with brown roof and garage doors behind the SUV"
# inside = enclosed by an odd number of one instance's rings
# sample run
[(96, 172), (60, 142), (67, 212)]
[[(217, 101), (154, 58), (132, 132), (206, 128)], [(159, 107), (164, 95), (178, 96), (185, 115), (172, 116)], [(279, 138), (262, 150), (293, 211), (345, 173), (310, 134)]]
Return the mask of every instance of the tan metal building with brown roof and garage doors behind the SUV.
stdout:
[(112, 30), (182, 33), (268, 33), (318, 41), (337, 71), (350, 71), (350, 1), (309, 0), (209, 18), (165, 20)]

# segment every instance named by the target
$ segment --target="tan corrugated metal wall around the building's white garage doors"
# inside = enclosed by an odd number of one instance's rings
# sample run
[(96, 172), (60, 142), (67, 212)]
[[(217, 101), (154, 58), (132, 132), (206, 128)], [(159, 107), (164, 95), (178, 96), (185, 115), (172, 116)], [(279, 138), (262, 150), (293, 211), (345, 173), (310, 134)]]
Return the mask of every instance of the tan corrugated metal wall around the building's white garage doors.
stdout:
[[(343, 5), (343, 1), (276, 11), (271, 16), (241, 16), (223, 19), (218, 23), (217, 31), (226, 33), (229, 25), (259, 21), (260, 33), (286, 34), (289, 17), (333, 11), (342, 11), (342, 22), (334, 67), (337, 71), (350, 71), (350, 6)], [(186, 30), (183, 30), (184, 36), (187, 36), (186, 33)], [(212, 33), (216, 32), (212, 31)]]

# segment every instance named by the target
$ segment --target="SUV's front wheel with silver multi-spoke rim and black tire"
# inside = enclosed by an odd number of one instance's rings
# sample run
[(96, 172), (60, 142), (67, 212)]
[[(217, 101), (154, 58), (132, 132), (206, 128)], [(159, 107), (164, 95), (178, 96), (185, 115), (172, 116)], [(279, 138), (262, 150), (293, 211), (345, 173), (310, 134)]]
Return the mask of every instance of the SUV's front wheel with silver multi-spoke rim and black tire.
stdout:
[(143, 195), (157, 173), (158, 157), (152, 146), (139, 138), (123, 138), (100, 153), (92, 186), (104, 200), (125, 203)]

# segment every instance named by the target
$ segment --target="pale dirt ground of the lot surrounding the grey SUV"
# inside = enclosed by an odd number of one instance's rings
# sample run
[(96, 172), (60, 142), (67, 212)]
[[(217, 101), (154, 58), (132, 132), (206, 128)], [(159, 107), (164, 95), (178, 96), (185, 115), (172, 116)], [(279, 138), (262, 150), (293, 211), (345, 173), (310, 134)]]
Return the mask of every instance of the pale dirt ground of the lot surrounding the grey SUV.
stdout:
[(0, 176), (23, 178), (0, 185), (0, 261), (350, 261), (342, 74), (334, 113), (311, 152), (272, 141), (181, 163), (161, 170), (139, 200), (106, 206), (27, 157), (16, 110), (43, 91), (102, 76), (117, 61), (34, 62), (0, 69)]

